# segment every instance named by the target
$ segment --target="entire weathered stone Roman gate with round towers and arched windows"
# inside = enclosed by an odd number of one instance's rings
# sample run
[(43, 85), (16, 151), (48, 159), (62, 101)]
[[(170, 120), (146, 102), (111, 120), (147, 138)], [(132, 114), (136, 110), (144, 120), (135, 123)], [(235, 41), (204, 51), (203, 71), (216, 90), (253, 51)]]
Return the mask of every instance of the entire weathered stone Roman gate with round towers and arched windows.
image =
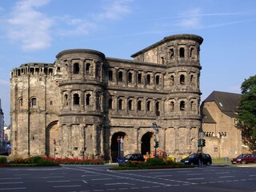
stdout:
[(12, 155), (105, 158), (158, 150), (180, 158), (198, 150), (202, 38), (178, 34), (131, 55), (63, 50), (54, 63), (11, 71)]

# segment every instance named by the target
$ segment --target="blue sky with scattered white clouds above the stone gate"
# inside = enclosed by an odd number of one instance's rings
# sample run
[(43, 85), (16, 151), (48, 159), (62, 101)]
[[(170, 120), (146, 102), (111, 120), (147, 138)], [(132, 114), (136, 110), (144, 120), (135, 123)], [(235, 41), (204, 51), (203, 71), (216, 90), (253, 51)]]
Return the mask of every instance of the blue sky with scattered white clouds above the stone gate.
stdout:
[(0, 2), (0, 98), (10, 124), (10, 70), (53, 63), (66, 49), (131, 54), (172, 34), (198, 34), (201, 91), (240, 93), (256, 74), (254, 0), (21, 0)]

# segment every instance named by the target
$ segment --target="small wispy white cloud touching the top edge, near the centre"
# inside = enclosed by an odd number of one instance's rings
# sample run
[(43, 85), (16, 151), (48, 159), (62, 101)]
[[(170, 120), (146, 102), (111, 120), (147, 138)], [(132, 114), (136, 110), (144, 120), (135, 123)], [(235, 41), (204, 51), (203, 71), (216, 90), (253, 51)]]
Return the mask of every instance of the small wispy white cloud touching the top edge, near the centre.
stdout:
[(118, 20), (121, 19), (124, 15), (130, 14), (132, 11), (129, 3), (132, 0), (112, 0), (107, 1), (108, 4), (105, 4), (103, 7), (104, 12), (102, 14), (94, 15), (94, 19), (96, 20)]

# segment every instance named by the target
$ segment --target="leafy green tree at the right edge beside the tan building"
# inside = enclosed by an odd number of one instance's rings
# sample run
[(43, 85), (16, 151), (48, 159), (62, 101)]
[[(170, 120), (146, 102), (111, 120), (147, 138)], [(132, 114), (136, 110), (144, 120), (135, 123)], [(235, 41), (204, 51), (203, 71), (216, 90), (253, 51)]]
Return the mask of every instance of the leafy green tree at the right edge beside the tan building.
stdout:
[(256, 150), (256, 75), (245, 79), (241, 90), (238, 128), (242, 130), (244, 143), (253, 151)]

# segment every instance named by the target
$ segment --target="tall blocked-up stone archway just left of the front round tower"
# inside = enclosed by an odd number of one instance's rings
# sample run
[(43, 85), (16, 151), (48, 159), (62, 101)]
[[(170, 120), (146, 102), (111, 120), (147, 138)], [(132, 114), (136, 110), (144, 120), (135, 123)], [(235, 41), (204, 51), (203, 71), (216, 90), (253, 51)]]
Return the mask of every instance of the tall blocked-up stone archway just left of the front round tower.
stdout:
[(46, 127), (46, 156), (54, 157), (54, 140), (58, 145), (58, 133), (59, 126), (58, 121), (51, 122), (49, 126)]

